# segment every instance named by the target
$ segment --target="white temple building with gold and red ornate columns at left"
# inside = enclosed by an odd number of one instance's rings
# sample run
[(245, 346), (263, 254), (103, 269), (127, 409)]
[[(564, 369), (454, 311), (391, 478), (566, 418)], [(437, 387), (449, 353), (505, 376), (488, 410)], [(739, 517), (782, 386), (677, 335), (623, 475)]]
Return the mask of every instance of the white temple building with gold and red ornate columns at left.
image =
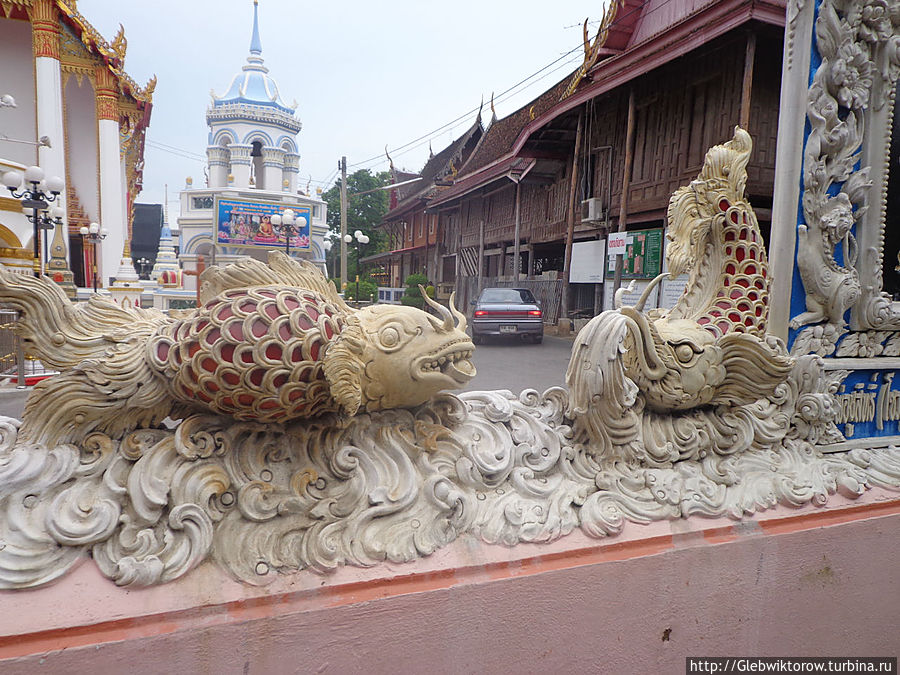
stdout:
[[(40, 166), (63, 179), (53, 204), (62, 226), (48, 233), (40, 256), (70, 295), (73, 280), (93, 285), (94, 263), (101, 286), (133, 272), (131, 223), (156, 80), (140, 86), (126, 74), (126, 47), (123, 30), (107, 42), (74, 0), (0, 4), (0, 174)], [(108, 233), (96, 257), (80, 234), (92, 222)], [(31, 273), (34, 236), (19, 198), (2, 189), (0, 264)]]

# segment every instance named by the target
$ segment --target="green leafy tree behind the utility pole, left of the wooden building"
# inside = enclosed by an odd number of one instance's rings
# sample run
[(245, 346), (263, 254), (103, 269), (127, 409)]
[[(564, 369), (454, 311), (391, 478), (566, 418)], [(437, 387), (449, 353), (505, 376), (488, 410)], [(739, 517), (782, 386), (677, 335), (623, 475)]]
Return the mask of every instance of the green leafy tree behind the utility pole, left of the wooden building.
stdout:
[[(360, 247), (360, 255), (363, 258), (388, 250), (387, 234), (377, 228), (388, 211), (388, 190), (378, 190), (377, 188), (390, 185), (390, 183), (391, 174), (387, 171), (373, 174), (368, 169), (360, 169), (347, 176), (347, 233), (352, 235), (356, 230), (360, 230), (363, 234), (368, 235), (369, 243)], [(374, 190), (374, 192), (369, 192), (370, 190)], [(334, 241), (334, 246), (329, 252), (329, 259), (332, 261), (330, 269), (336, 277), (340, 277), (340, 178), (325, 192), (322, 198), (328, 204), (328, 229), (332, 233)], [(358, 269), (356, 243), (351, 242), (347, 245), (347, 279), (356, 278)]]

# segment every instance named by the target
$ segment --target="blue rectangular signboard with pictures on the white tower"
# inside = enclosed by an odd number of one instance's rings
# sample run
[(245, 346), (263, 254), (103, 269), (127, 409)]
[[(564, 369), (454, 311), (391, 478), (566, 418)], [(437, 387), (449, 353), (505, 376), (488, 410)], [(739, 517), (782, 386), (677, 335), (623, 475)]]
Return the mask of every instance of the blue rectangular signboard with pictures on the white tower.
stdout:
[[(272, 222), (272, 216), (291, 209), (295, 214), (290, 232)], [(223, 246), (277, 248), (290, 236), (290, 248), (309, 249), (311, 209), (301, 204), (263, 202), (255, 199), (216, 197), (216, 243)]]

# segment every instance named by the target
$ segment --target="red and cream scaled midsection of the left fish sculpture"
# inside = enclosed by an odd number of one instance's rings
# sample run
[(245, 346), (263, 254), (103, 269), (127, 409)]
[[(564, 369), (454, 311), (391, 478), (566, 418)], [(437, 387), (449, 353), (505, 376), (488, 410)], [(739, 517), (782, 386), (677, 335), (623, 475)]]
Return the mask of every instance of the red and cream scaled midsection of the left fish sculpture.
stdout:
[(173, 394), (237, 419), (280, 422), (337, 410), (322, 370), (343, 311), (296, 288), (228, 291), (164, 326), (148, 356)]

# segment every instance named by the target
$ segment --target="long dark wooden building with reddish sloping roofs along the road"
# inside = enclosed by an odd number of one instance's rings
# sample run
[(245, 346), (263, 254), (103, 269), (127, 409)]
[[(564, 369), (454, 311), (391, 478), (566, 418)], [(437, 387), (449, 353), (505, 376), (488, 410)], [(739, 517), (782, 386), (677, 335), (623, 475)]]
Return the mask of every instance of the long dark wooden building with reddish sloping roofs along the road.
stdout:
[[(768, 232), (784, 21), (783, 0), (613, 2), (574, 73), (483, 133), (479, 119), (401, 193), (383, 223), (393, 283), (423, 272), (468, 301), (517, 281), (555, 319), (567, 240), (620, 227), (661, 239), (669, 196), (739, 123), (754, 139), (747, 191)], [(462, 159), (453, 171), (448, 155)], [(573, 284), (567, 306), (596, 309), (599, 297)]]

